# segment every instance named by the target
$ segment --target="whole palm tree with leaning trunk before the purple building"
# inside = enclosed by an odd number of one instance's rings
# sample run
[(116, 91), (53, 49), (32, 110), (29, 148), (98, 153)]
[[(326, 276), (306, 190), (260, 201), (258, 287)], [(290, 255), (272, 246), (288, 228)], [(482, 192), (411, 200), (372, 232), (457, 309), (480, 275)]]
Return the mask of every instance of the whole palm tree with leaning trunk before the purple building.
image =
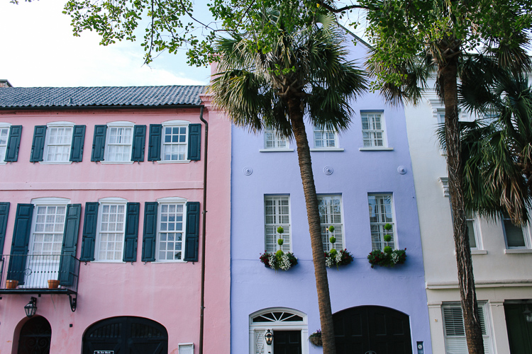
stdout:
[(333, 354), (331, 299), (304, 118), (318, 127), (345, 130), (353, 113), (350, 101), (366, 89), (365, 74), (346, 59), (344, 38), (333, 17), (316, 14), (312, 23), (291, 27), (287, 26), (293, 23), (289, 13), (272, 10), (262, 18), (276, 29), (274, 44), (268, 50), (257, 49), (250, 33), (219, 40), (216, 52), (221, 59), (211, 90), (216, 105), (226, 110), (235, 125), (253, 132), (273, 127), (297, 144), (323, 353)]

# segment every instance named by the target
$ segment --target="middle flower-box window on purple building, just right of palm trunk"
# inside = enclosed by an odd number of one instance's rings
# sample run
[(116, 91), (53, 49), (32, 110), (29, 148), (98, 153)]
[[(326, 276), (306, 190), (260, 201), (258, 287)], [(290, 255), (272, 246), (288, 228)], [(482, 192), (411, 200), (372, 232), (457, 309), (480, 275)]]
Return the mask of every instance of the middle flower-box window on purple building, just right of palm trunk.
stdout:
[[(318, 195), (323, 251), (328, 252), (331, 249), (340, 251), (344, 249), (341, 204), (340, 195)], [(328, 227), (331, 225), (334, 227), (332, 233), (328, 231)], [(336, 239), (334, 244), (331, 244), (331, 236)]]

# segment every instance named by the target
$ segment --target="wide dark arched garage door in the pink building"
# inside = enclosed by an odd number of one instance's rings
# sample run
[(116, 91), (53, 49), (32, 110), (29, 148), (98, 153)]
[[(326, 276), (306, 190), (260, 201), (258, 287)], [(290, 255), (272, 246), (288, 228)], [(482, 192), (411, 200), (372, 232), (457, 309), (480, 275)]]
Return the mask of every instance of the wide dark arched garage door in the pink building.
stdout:
[(165, 327), (142, 317), (112, 317), (96, 322), (83, 336), (83, 354), (167, 354)]

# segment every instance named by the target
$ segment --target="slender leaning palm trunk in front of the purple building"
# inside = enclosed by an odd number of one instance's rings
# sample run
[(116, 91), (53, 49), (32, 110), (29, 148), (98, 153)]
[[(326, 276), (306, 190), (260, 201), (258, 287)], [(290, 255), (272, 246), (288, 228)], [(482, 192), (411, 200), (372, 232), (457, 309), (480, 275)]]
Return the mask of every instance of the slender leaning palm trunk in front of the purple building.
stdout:
[(314, 261), (314, 276), (316, 277), (316, 289), (318, 290), (318, 307), (321, 322), (321, 339), (323, 341), (323, 354), (336, 354), (333, 329), (333, 312), (331, 310), (331, 297), (329, 295), (329, 283), (327, 268), (323, 256), (323, 242), (321, 241), (321, 222), (318, 210), (318, 197), (312, 162), (310, 156), (309, 141), (306, 139), (303, 112), (301, 111), (299, 98), (288, 100), (289, 117), (292, 122), (294, 139), (297, 144), (297, 158), (301, 171), (301, 181), (306, 202), (306, 215), (309, 219), (309, 232), (311, 236), (312, 260)]

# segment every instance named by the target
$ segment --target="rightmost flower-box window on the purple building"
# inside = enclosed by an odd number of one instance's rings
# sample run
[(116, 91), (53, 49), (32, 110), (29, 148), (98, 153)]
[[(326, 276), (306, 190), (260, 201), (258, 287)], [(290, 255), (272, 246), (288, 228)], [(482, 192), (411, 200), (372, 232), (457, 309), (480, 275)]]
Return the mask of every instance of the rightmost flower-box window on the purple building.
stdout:
[[(397, 249), (395, 224), (392, 211), (392, 195), (377, 194), (367, 195), (370, 207), (371, 248), (373, 251), (384, 251), (385, 246)], [(389, 224), (391, 229), (384, 229)], [(384, 235), (389, 234), (392, 239), (384, 241)]]

